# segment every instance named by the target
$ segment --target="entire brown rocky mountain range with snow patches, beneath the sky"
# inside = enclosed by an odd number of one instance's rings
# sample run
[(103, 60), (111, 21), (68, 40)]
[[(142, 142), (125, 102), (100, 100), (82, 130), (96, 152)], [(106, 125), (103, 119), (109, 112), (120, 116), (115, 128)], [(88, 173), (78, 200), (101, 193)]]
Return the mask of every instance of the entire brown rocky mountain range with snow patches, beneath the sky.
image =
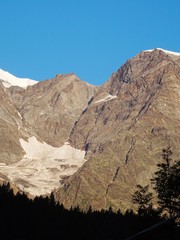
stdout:
[(53, 190), (66, 208), (131, 208), (162, 149), (179, 156), (179, 64), (179, 53), (143, 51), (99, 87), (73, 73), (10, 86), (1, 71), (1, 180)]

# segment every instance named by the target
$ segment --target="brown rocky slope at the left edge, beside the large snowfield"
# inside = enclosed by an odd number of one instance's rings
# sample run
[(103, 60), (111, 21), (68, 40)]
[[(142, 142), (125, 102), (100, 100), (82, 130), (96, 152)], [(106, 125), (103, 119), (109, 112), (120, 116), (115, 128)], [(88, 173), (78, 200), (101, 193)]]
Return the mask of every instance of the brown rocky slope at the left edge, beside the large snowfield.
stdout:
[(22, 121), (21, 115), (8, 97), (6, 89), (0, 84), (0, 162), (18, 161), (24, 151), (19, 139), (27, 139), (31, 129)]

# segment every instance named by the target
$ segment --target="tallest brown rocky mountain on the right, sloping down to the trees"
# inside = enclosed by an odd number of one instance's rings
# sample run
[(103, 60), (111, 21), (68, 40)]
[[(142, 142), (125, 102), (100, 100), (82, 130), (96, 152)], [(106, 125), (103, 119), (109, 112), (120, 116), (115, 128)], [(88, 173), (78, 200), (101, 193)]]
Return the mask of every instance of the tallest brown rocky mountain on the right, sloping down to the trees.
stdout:
[(66, 207), (131, 208), (136, 184), (149, 184), (162, 148), (180, 142), (180, 55), (161, 49), (127, 61), (96, 93), (70, 143), (88, 161), (56, 198)]

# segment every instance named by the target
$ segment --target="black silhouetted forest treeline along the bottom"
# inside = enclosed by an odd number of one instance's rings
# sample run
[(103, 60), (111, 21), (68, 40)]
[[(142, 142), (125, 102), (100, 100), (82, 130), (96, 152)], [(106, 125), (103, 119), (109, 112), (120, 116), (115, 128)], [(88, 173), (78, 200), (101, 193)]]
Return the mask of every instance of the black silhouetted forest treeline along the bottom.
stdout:
[[(25, 194), (14, 195), (9, 184), (0, 186), (0, 239), (128, 239), (163, 218), (156, 213), (137, 215), (132, 211), (91, 211), (78, 208), (66, 210), (56, 204), (53, 195), (29, 199)], [(172, 221), (132, 239), (179, 239)]]

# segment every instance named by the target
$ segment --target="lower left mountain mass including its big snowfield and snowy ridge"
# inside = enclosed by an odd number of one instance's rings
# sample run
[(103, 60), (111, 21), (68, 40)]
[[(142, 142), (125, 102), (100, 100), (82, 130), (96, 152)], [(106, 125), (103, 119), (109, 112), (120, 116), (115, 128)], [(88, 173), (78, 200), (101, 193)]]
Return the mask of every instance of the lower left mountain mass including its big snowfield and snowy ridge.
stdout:
[(86, 161), (67, 140), (97, 87), (74, 74), (26, 87), (4, 85), (4, 72), (0, 79), (0, 178), (31, 195), (50, 193)]

